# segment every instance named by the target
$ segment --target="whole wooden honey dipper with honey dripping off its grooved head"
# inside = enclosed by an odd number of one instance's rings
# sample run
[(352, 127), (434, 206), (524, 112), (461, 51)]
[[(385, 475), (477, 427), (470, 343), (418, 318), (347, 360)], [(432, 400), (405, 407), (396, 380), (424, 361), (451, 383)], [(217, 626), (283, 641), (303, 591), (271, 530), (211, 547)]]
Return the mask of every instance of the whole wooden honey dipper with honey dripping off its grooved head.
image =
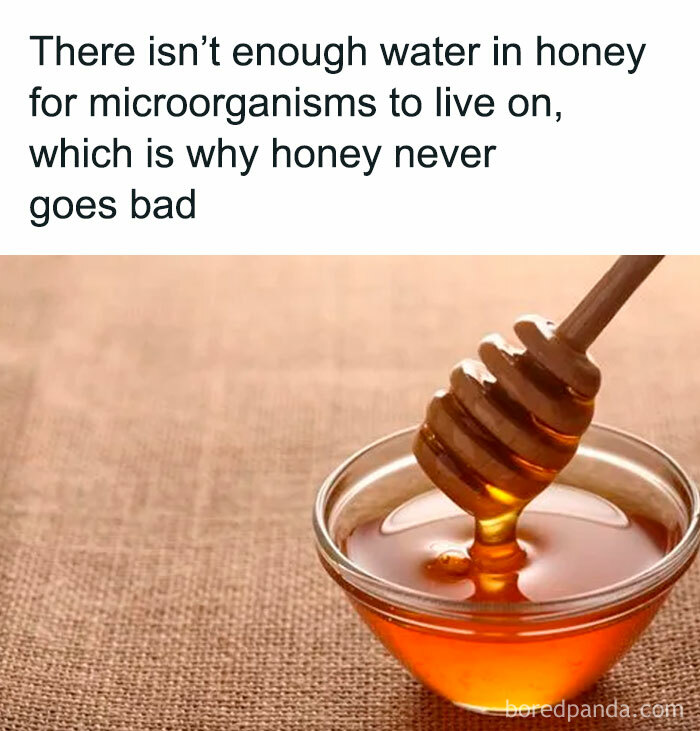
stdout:
[[(458, 363), (416, 433), (413, 452), (432, 482), (474, 515), (472, 559), (510, 570), (522, 509), (571, 460), (593, 418), (600, 370), (587, 348), (662, 256), (621, 256), (559, 325), (520, 318), (525, 348), (489, 335)], [(499, 563), (500, 562), (500, 563)]]

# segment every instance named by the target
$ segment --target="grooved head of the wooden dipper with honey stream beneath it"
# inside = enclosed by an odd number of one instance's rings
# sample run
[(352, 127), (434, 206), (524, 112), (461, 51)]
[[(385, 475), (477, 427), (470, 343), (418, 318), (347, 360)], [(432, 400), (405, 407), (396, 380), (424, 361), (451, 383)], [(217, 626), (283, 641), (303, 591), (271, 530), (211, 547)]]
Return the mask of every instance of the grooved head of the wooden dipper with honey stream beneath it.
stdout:
[(553, 323), (522, 318), (515, 332), (525, 349), (492, 335), (479, 346), (481, 362), (453, 369), (413, 447), (431, 481), (474, 516), (469, 555), (447, 550), (430, 568), (468, 575), (477, 600), (524, 598), (518, 517), (574, 456), (600, 386), (598, 367), (558, 338)]

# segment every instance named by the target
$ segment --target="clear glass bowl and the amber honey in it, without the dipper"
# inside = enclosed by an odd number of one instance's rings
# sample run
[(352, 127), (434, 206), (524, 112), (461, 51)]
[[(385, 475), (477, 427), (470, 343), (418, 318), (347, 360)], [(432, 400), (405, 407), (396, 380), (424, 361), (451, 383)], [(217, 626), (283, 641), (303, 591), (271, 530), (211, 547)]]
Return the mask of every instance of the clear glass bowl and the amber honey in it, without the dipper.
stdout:
[(511, 574), (469, 570), (473, 519), (411, 452), (415, 428), (321, 486), (323, 566), (384, 646), (455, 704), (537, 709), (590, 687), (651, 622), (700, 542), (700, 494), (651, 444), (593, 424), (520, 517)]

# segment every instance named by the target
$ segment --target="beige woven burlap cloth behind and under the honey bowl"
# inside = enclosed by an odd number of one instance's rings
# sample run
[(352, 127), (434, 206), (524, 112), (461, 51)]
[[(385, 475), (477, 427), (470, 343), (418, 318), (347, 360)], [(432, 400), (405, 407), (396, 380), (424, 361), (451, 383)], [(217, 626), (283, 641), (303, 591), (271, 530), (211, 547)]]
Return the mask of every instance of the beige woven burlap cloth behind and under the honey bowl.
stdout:
[[(340, 460), (610, 262), (1, 260), (0, 728), (700, 728), (698, 565), (582, 699), (683, 720), (504, 722), (408, 677), (313, 548)], [(668, 259), (595, 348), (598, 419), (696, 478), (699, 282)]]

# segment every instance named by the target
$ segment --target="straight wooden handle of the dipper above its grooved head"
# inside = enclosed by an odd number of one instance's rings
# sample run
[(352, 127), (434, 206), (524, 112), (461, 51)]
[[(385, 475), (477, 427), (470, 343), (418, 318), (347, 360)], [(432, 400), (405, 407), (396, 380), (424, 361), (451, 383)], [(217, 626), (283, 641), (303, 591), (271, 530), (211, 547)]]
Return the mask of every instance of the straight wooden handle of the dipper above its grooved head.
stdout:
[(621, 256), (557, 328), (571, 347), (585, 352), (663, 256)]

